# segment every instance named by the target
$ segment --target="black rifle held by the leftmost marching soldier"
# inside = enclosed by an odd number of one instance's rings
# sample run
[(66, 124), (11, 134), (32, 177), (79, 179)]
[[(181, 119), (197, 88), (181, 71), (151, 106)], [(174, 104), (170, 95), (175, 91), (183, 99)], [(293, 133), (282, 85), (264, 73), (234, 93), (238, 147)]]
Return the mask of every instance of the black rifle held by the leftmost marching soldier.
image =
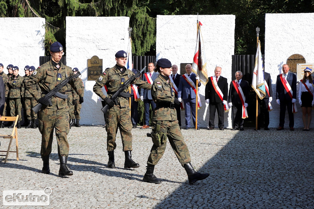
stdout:
[[(87, 70), (87, 68), (85, 68), (84, 70), (82, 70), (81, 72), (78, 72), (77, 74), (71, 75), (68, 78), (66, 78), (65, 80), (63, 80), (61, 83), (59, 83), (56, 87), (54, 87), (50, 92), (48, 92), (44, 97), (48, 98), (49, 101), (49, 107), (52, 106), (52, 102), (51, 102), (51, 97), (52, 96), (57, 96), (59, 98), (62, 99), (67, 99), (68, 95), (66, 94), (61, 94), (59, 91), (68, 84), (68, 82), (70, 82), (72, 79), (76, 79), (78, 76), (80, 76), (85, 70)], [(32, 110), (37, 114), (38, 111), (41, 109), (42, 104), (38, 103), (37, 105), (35, 105), (35, 107), (32, 108)]]

